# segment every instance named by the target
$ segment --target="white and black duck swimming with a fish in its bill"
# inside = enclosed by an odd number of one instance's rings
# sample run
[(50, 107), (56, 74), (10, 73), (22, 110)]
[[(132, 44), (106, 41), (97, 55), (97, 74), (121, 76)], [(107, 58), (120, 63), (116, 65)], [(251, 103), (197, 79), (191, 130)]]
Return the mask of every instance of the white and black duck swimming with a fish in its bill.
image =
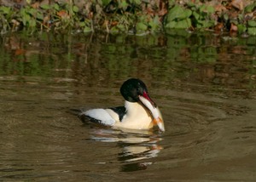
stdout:
[(120, 88), (120, 94), (125, 99), (125, 105), (81, 111), (79, 118), (83, 122), (94, 122), (111, 128), (148, 130), (157, 126), (161, 132), (165, 132), (160, 109), (150, 98), (142, 80), (126, 80)]

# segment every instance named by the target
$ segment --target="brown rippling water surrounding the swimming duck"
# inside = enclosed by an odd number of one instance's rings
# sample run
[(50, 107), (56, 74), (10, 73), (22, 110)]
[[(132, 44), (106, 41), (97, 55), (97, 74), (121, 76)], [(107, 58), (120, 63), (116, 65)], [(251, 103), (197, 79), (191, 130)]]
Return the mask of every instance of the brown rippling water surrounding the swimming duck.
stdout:
[[(83, 124), (139, 77), (166, 133)], [(0, 37), (0, 180), (256, 180), (256, 37)]]

